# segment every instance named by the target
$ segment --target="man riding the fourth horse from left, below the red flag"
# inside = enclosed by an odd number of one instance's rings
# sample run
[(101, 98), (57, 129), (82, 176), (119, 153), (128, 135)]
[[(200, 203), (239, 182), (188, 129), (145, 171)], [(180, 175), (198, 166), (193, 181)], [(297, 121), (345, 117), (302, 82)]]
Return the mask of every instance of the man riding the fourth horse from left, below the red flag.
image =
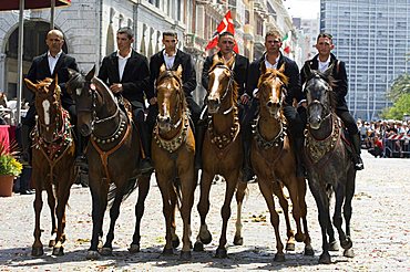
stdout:
[[(248, 66), (249, 66), (249, 60), (243, 55), (239, 55), (237, 53), (234, 52), (234, 48), (235, 48), (235, 39), (234, 39), (234, 34), (226, 31), (226, 32), (222, 32), (219, 35), (218, 35), (218, 48), (219, 48), (219, 51), (216, 53), (221, 60), (223, 60), (225, 63), (229, 62), (229, 60), (232, 57), (235, 57), (235, 62), (234, 62), (234, 80), (235, 82), (237, 83), (239, 90), (238, 90), (238, 98), (240, 101), (240, 103), (244, 105), (244, 107), (248, 106), (248, 102), (249, 102), (249, 95), (246, 94), (245, 92), (245, 87), (246, 87), (246, 81), (247, 81), (247, 71), (248, 71)], [(214, 59), (214, 55), (211, 55), (208, 57), (206, 57), (205, 60), (205, 63), (204, 63), (204, 67), (202, 70), (202, 85), (205, 90), (208, 88), (208, 85), (209, 85), (209, 70), (212, 67), (212, 64), (213, 64), (213, 59)], [(244, 113), (243, 111), (239, 112), (239, 114), (243, 116)], [(203, 118), (206, 118), (206, 113), (204, 114)], [(196, 143), (197, 143), (197, 148), (196, 148), (196, 154), (195, 154), (195, 168), (196, 169), (199, 169), (202, 168), (202, 146), (203, 146), (203, 142), (204, 142), (204, 137), (205, 137), (205, 129), (206, 129), (206, 119), (201, 119), (199, 121), (199, 129), (198, 129), (198, 133), (197, 133), (197, 138), (196, 138)], [(243, 126), (244, 122), (242, 121), (242, 126)], [(245, 126), (243, 126), (245, 127)], [(244, 133), (244, 130), (249, 130), (249, 133)], [(243, 138), (243, 146), (244, 146), (244, 154), (248, 154), (246, 153), (246, 150), (250, 150), (250, 127), (249, 128), (243, 128), (243, 134), (242, 134), (242, 138)], [(249, 156), (248, 155), (245, 155), (245, 159), (244, 159), (244, 171), (243, 171), (243, 176), (244, 176), (244, 180), (250, 180), (254, 176), (253, 171), (252, 171), (252, 168), (250, 168), (250, 161), (249, 161)]]

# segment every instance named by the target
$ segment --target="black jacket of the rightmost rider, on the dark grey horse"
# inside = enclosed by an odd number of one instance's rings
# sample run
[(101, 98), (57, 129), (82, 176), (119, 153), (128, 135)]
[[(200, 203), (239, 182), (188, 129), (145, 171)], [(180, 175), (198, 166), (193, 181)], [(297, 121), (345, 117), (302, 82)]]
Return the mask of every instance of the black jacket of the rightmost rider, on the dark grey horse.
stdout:
[[(346, 64), (342, 61), (338, 61), (334, 54), (330, 54), (329, 66), (331, 64), (335, 64), (332, 69), (332, 77), (336, 80), (335, 82), (336, 86), (334, 87), (334, 91), (336, 93), (337, 109), (348, 111), (348, 106), (345, 98), (348, 90)], [(305, 62), (305, 65), (300, 71), (301, 84), (305, 84), (306, 82), (304, 70), (307, 65), (309, 65), (311, 70), (318, 70), (319, 67), (318, 55), (315, 55), (314, 59)]]

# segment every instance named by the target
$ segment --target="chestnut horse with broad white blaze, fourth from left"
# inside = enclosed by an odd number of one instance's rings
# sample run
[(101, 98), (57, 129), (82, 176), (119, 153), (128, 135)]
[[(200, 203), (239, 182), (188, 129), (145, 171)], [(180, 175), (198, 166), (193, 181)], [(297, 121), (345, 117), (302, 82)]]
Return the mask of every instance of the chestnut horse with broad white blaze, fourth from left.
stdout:
[(207, 107), (209, 124), (203, 146), (203, 170), (201, 176), (201, 198), (197, 206), (201, 228), (194, 250), (201, 251), (212, 241), (205, 222), (209, 211), (209, 190), (215, 175), (226, 179), (225, 201), (222, 207), (222, 233), (216, 250), (217, 258), (226, 258), (226, 228), (230, 217), (230, 201), (238, 182), (243, 163), (242, 139), (239, 134), (238, 108), (236, 105), (238, 86), (234, 81), (234, 57), (224, 63), (215, 55), (209, 72)]

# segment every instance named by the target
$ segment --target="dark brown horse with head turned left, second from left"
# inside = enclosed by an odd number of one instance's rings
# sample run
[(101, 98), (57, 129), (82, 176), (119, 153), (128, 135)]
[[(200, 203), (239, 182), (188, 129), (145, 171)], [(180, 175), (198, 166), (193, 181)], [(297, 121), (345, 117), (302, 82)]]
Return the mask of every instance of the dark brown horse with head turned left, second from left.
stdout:
[[(69, 70), (68, 91), (76, 104), (78, 126), (83, 136), (90, 136), (86, 147), (89, 161), (89, 187), (92, 195), (93, 231), (86, 259), (95, 260), (112, 254), (115, 221), (121, 202), (139, 187), (135, 206), (135, 231), (130, 252), (140, 251), (140, 223), (144, 213), (144, 201), (150, 189), (151, 174), (139, 170), (140, 137), (132, 122), (131, 111), (119, 106), (110, 88), (94, 76), (93, 67), (85, 76)], [(125, 104), (125, 101), (124, 101)], [(125, 109), (131, 107), (125, 104)], [(110, 185), (113, 185), (110, 189)], [(102, 249), (99, 250), (103, 231), (103, 219), (107, 202), (110, 229)]]

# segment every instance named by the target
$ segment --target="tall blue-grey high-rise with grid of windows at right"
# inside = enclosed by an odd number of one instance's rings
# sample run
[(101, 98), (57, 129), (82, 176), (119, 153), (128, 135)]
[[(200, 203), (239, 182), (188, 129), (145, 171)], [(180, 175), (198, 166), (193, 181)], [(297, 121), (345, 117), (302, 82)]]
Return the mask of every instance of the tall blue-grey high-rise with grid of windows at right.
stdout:
[(334, 35), (347, 64), (348, 104), (355, 117), (377, 119), (386, 92), (410, 72), (410, 0), (321, 0), (320, 30)]

